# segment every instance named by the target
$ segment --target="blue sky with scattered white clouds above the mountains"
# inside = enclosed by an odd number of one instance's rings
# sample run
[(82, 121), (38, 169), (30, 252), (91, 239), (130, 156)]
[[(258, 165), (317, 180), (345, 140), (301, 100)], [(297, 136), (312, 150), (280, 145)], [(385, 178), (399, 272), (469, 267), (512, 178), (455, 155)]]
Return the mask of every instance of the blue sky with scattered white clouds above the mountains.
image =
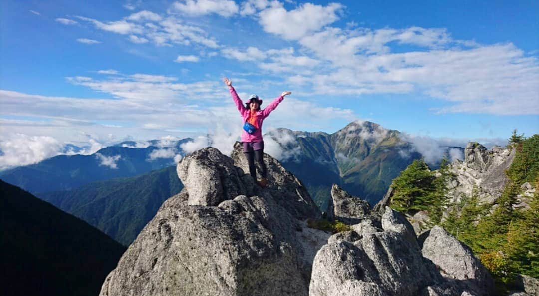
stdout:
[(265, 103), (293, 92), (266, 131), (361, 119), (500, 142), (539, 127), (536, 1), (0, 5), (0, 167), (65, 143), (211, 133), (229, 145), (241, 122), (223, 76)]

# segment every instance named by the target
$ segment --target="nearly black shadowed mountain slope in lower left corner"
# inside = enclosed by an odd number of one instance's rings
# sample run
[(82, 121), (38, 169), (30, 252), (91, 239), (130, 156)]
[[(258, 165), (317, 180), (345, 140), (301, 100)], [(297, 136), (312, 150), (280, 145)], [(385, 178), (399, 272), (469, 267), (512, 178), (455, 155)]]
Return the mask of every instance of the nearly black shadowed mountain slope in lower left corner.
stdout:
[(0, 180), (2, 295), (96, 295), (125, 247)]

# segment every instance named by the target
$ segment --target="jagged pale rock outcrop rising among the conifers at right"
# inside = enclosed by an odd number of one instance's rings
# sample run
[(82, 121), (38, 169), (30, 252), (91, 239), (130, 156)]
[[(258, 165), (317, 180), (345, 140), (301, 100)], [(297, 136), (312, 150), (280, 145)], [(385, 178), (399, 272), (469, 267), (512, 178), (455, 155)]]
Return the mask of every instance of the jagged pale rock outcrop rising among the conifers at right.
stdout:
[(455, 175), (448, 184), (451, 201), (459, 201), (462, 194), (471, 195), (476, 188), (481, 203), (494, 203), (508, 181), (505, 170), (513, 163), (515, 150), (500, 146), (487, 150), (479, 143), (469, 142), (464, 157), (464, 161), (455, 160), (450, 166)]

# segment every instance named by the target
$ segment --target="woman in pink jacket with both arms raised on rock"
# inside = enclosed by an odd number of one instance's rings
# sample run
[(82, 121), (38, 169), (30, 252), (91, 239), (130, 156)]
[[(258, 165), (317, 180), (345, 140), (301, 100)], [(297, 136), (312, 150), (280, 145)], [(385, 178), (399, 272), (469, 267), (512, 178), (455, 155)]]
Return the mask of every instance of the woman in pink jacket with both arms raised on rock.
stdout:
[(262, 100), (257, 95), (250, 95), (245, 106), (241, 102), (236, 90), (232, 87), (232, 82), (228, 78), (223, 78), (226, 86), (229, 87), (232, 100), (238, 107), (238, 111), (243, 118), (244, 130), (241, 133), (241, 142), (243, 142), (243, 152), (247, 158), (249, 164), (249, 174), (253, 177), (253, 180), (257, 180), (257, 173), (254, 168), (254, 162), (258, 164), (258, 171), (262, 177), (258, 181), (260, 187), (266, 187), (267, 185), (267, 172), (266, 165), (264, 164), (264, 140), (262, 139), (262, 121), (266, 118), (271, 111), (277, 108), (285, 96), (292, 94), (291, 91), (283, 91), (282, 94), (269, 103), (266, 108), (260, 110), (260, 104)]

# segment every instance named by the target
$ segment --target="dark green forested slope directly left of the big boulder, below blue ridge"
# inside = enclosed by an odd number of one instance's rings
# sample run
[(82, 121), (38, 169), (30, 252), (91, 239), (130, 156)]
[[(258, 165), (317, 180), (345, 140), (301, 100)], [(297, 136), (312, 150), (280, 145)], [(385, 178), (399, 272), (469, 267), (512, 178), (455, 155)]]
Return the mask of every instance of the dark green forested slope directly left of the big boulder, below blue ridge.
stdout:
[(93, 182), (73, 191), (38, 196), (129, 245), (162, 203), (182, 188), (176, 166), (171, 166), (138, 177)]

